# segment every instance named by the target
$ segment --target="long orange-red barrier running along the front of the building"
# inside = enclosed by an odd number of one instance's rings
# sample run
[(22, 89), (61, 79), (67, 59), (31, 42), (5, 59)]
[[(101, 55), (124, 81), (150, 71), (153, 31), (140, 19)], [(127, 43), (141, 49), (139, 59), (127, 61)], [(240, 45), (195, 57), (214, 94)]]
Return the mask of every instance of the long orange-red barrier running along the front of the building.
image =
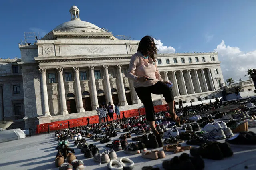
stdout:
[[(155, 109), (155, 112), (167, 111), (167, 105), (154, 106), (154, 109)], [(133, 109), (128, 111), (121, 111), (120, 117), (122, 119), (123, 115), (127, 118), (127, 117), (134, 117), (134, 116), (145, 115), (145, 114), (146, 114), (145, 108), (139, 108), (139, 109)], [(116, 114), (114, 114), (114, 119), (117, 119)], [(37, 125), (36, 133), (40, 134), (40, 133), (48, 132), (48, 128), (49, 128), (49, 131), (56, 131), (56, 130), (61, 130), (65, 128), (84, 126), (88, 124), (88, 121), (90, 124), (99, 123), (99, 118), (97, 115), (95, 115), (90, 117), (81, 117), (81, 118), (56, 121), (51, 123), (43, 123), (43, 124)]]

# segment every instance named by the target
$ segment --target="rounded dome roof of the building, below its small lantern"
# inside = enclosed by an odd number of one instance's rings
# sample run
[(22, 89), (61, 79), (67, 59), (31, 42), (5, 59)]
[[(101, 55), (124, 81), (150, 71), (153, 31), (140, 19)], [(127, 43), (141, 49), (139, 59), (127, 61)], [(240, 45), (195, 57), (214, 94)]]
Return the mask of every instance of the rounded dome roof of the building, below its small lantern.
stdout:
[(98, 26), (86, 21), (73, 20), (64, 22), (53, 29), (54, 31), (78, 31), (78, 32), (104, 32)]

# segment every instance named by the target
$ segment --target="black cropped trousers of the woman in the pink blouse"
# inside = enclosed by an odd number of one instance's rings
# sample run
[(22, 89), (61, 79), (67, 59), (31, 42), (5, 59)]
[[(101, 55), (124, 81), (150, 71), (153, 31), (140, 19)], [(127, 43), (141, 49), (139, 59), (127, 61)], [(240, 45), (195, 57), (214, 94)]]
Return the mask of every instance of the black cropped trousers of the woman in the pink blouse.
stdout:
[(150, 122), (155, 121), (155, 111), (151, 93), (156, 95), (163, 95), (167, 103), (174, 101), (171, 88), (169, 88), (162, 81), (158, 81), (157, 83), (155, 83), (155, 85), (148, 87), (137, 87), (135, 88), (135, 91), (141, 102), (144, 104), (146, 110), (146, 118), (147, 121)]

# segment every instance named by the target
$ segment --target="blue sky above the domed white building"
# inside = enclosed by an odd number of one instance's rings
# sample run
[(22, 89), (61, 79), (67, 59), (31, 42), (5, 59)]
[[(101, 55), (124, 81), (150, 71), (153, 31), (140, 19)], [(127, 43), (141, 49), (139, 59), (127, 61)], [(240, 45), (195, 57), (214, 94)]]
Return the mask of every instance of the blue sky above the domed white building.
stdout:
[[(81, 20), (107, 28), (113, 35), (140, 40), (149, 34), (170, 46), (169, 52), (222, 51), (218, 52), (224, 79), (246, 79), (243, 72), (253, 67), (252, 62), (256, 65), (254, 0), (1, 1), (0, 57), (20, 57), (18, 43), (24, 40), (24, 32), (43, 36), (70, 20), (73, 4), (80, 9)], [(250, 62), (238, 68), (241, 62), (236, 60), (244, 55)]]

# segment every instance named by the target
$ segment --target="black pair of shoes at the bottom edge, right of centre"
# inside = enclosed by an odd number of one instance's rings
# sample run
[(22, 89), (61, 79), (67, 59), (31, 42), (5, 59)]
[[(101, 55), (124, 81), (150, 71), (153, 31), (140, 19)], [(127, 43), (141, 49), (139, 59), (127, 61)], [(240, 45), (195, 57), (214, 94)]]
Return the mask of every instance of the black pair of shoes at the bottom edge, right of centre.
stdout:
[(165, 170), (202, 170), (204, 160), (200, 156), (189, 157), (189, 154), (183, 153), (179, 157), (163, 161), (162, 165)]

